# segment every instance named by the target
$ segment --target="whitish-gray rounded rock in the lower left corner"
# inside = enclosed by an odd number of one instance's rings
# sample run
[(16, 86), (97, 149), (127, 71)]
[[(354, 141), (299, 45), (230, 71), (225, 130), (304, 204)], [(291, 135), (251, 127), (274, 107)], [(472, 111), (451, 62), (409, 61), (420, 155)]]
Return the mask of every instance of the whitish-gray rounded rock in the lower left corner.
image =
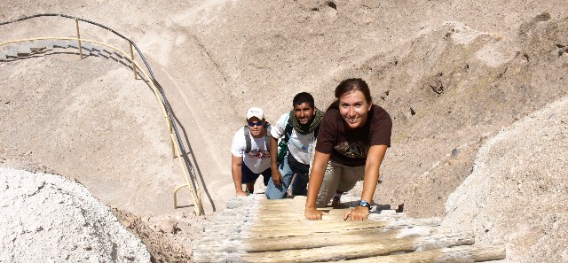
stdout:
[(0, 168), (0, 243), (2, 262), (150, 262), (82, 185), (11, 168)]

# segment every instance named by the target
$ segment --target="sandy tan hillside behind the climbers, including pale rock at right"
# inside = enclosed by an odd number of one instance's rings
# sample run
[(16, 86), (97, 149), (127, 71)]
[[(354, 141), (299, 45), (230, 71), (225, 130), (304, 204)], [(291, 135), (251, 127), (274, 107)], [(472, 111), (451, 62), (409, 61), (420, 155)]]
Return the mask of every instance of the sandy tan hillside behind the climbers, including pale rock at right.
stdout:
[[(65, 13), (138, 44), (196, 159), (208, 216), (234, 195), (230, 140), (248, 107), (263, 107), (274, 121), (297, 92), (309, 91), (325, 109), (335, 85), (354, 76), (394, 120), (375, 203), (404, 204), (413, 217), (447, 216), (478, 242), (507, 244), (509, 262), (566, 258), (563, 1), (0, 7), (2, 21)], [(105, 30), (81, 28), (85, 38), (128, 50)], [(35, 19), (2, 26), (0, 35), (0, 42), (74, 37), (75, 23)], [(0, 62), (0, 166), (81, 182), (154, 260), (189, 259), (207, 216), (192, 215), (186, 191), (173, 208), (172, 191), (184, 179), (157, 100), (129, 66), (115, 55), (79, 60), (73, 49)]]

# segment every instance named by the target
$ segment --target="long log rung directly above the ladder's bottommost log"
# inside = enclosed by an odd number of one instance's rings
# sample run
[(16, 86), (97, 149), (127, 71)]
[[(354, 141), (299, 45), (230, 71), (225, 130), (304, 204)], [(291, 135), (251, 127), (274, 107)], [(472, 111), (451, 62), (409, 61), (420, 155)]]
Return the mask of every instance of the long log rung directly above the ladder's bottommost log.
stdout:
[(388, 255), (394, 252), (414, 251), (420, 247), (448, 247), (473, 244), (471, 233), (437, 234), (432, 236), (387, 239), (361, 244), (342, 244), (304, 250), (267, 251), (243, 254), (248, 262), (315, 262), (343, 259), (361, 259)]

